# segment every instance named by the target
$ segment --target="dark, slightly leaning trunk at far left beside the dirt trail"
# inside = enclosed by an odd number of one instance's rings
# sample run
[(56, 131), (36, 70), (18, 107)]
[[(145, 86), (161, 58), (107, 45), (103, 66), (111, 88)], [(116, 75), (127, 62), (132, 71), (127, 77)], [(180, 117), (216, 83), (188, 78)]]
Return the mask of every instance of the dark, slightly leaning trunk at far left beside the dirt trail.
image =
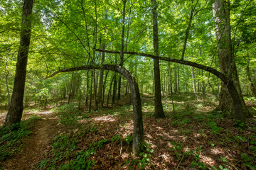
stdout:
[(14, 90), (11, 95), (11, 104), (4, 126), (21, 122), (23, 113), (23, 96), (26, 81), (26, 66), (28, 62), (28, 50), (31, 40), (31, 14), (33, 0), (24, 0), (22, 24), (21, 24), (21, 41), (18, 47), (18, 57), (16, 63), (16, 73), (14, 78)]

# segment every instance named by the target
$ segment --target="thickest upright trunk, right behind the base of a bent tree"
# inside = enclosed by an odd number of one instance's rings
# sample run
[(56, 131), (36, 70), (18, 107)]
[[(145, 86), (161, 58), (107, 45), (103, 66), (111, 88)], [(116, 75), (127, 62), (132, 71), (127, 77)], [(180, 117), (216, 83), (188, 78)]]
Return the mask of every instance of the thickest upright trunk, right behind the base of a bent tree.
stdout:
[[(231, 30), (229, 7), (229, 0), (227, 2), (223, 0), (215, 0), (213, 3), (213, 17), (215, 23), (216, 38), (218, 42), (220, 72), (228, 75), (228, 77), (233, 80), (233, 85), (238, 91), (238, 96), (236, 98), (231, 98), (233, 94), (230, 93), (230, 89), (227, 89), (227, 86), (222, 82), (220, 89), (220, 103), (217, 110), (222, 111), (223, 113), (231, 113), (234, 118), (245, 122), (245, 116), (250, 115), (250, 113), (247, 106), (245, 105), (245, 101), (242, 98), (238, 72), (235, 66), (230, 37)], [(240, 108), (236, 106), (239, 102)]]

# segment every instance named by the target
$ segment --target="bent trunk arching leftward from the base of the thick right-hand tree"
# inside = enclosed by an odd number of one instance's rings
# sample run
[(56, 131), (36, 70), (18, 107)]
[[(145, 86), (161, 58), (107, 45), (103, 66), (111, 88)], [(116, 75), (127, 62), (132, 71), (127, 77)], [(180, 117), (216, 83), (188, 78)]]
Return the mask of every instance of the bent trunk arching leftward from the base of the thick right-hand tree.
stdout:
[[(102, 52), (102, 50), (100, 50), (100, 49), (96, 49), (96, 51)], [(118, 51), (105, 50), (104, 52), (108, 52), (108, 53), (112, 53), (112, 54), (119, 54)], [(186, 61), (186, 60), (178, 60), (178, 59), (169, 58), (169, 57), (159, 57), (156, 55), (150, 55), (150, 54), (146, 54), (146, 53), (142, 53), (142, 52), (124, 52), (124, 53), (129, 54), (129, 55), (150, 57), (153, 59), (164, 60), (164, 61), (168, 61), (168, 62), (176, 62), (176, 63), (183, 64), (183, 65), (193, 66), (198, 69), (203, 69), (206, 72), (210, 72), (211, 74), (214, 74), (221, 81), (223, 81), (223, 84), (225, 84), (228, 87), (228, 92), (230, 93), (231, 97), (233, 98), (233, 104), (235, 106), (235, 108), (234, 108), (235, 114), (233, 115), (233, 118), (235, 118), (235, 120), (240, 120), (243, 123), (245, 122), (246, 112), (242, 108), (243, 103), (245, 101), (243, 101), (243, 99), (240, 98), (238, 89), (236, 89), (233, 79), (230, 79), (225, 74), (219, 72), (217, 69), (213, 69), (212, 67), (208, 67), (203, 64), (198, 64), (196, 62), (190, 62), (190, 61)]]

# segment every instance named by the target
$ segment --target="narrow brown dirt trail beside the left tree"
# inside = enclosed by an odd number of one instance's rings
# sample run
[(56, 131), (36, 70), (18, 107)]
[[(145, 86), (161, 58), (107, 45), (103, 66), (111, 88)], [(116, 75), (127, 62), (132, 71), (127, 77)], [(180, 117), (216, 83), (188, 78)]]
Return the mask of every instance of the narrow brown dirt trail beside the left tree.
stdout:
[(33, 126), (32, 135), (28, 137), (21, 152), (4, 162), (5, 169), (36, 169), (36, 164), (46, 157), (50, 142), (59, 130), (58, 118), (50, 111), (41, 111), (42, 120)]

